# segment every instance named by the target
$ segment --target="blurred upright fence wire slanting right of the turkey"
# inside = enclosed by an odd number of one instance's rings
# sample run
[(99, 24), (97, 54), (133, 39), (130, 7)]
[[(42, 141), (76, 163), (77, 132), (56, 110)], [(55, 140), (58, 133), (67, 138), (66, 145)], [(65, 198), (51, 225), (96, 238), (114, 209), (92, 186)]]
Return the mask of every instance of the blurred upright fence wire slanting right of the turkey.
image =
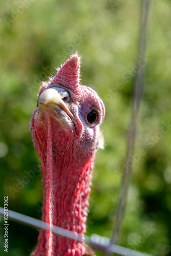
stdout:
[[(116, 229), (112, 233), (111, 241), (113, 243), (117, 243), (119, 237), (119, 231), (121, 228), (121, 223), (124, 216), (127, 192), (129, 188), (129, 181), (131, 176), (132, 169), (132, 156), (134, 154), (134, 146), (135, 146), (135, 138), (136, 138), (136, 130), (137, 130), (137, 116), (139, 111), (141, 94), (143, 91), (144, 84), (144, 70), (145, 70), (145, 47), (146, 47), (146, 34), (147, 34), (147, 21), (149, 14), (149, 4), (151, 0), (143, 0), (142, 2), (142, 14), (141, 14), (141, 32), (139, 39), (139, 55), (137, 60), (137, 73), (134, 83), (134, 92), (133, 92), (133, 106), (132, 106), (132, 117), (130, 128), (128, 132), (127, 138), (127, 148), (124, 163), (122, 166), (122, 185), (121, 185), (121, 194), (119, 199), (119, 206), (116, 216)], [(143, 63), (142, 63), (143, 62)]]

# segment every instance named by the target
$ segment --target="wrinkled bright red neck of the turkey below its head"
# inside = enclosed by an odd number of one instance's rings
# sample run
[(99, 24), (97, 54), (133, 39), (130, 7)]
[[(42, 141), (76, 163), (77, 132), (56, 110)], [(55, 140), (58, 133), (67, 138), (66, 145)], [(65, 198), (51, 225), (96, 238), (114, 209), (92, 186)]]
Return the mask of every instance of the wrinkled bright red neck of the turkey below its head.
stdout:
[[(37, 121), (34, 118), (31, 124), (34, 146), (41, 160), (44, 188), (41, 219), (50, 225), (83, 235), (86, 232), (95, 151), (90, 157), (83, 155), (78, 141), (70, 133), (65, 134), (65, 130), (60, 129), (55, 134), (50, 119), (47, 120), (48, 131), (45, 134), (41, 126), (35, 125)], [(84, 253), (81, 243), (40, 230), (38, 244), (32, 255), (79, 256)]]

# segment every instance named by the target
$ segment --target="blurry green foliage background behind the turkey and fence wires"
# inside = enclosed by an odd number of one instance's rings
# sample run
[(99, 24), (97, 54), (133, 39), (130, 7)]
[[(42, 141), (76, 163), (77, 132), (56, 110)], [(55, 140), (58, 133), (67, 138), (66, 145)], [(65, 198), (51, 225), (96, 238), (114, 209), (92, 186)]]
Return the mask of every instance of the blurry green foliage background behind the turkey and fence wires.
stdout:
[[(111, 236), (131, 116), (140, 9), (136, 0), (1, 1), (2, 207), (4, 196), (8, 196), (9, 209), (41, 217), (40, 162), (29, 122), (39, 82), (54, 75), (55, 68), (78, 50), (82, 83), (97, 91), (106, 106), (102, 124), (105, 149), (96, 156), (87, 235)], [(156, 256), (171, 255), (170, 13), (170, 1), (154, 1), (137, 155), (119, 239), (122, 246)], [(29, 178), (28, 172), (34, 177)], [(3, 224), (1, 218), (0, 254), (7, 255)], [(38, 230), (12, 221), (9, 224), (8, 256), (29, 255)]]

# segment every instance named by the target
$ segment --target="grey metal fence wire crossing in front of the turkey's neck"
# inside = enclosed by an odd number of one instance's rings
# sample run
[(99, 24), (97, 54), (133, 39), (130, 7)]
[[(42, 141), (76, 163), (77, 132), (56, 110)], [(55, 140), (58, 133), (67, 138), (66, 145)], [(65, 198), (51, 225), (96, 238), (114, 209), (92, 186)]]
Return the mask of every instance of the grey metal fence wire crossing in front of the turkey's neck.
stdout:
[[(0, 207), (0, 215), (4, 216), (4, 208), (2, 207)], [(54, 234), (57, 234), (57, 236), (66, 237), (79, 242), (85, 242), (87, 244), (90, 244), (93, 249), (104, 252), (104, 253), (110, 252), (120, 256), (151, 256), (151, 255), (147, 255), (131, 249), (124, 248), (119, 245), (111, 244), (108, 238), (100, 237), (97, 234), (92, 234), (91, 237), (87, 237), (87, 236), (83, 237), (77, 232), (73, 232), (73, 231), (70, 231), (61, 227), (53, 226), (53, 225), (50, 226), (46, 222), (36, 220), (34, 218), (28, 217), (23, 214), (19, 214), (18, 212), (15, 212), (12, 210), (8, 210), (8, 217), (11, 220), (21, 222), (29, 226), (45, 229), (48, 231), (51, 230)]]

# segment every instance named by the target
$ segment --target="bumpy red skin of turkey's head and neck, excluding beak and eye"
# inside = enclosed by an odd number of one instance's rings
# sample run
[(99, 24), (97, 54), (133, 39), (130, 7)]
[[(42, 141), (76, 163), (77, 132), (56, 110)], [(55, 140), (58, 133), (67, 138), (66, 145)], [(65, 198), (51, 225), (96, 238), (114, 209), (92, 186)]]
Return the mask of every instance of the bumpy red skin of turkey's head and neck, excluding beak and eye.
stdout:
[[(42, 84), (39, 91), (40, 96), (49, 88), (57, 90), (74, 118), (60, 108), (45, 111), (38, 104), (30, 128), (41, 160), (42, 221), (83, 235), (86, 232), (93, 162), (100, 140), (99, 127), (105, 110), (97, 93), (80, 85), (79, 69), (80, 58), (75, 54), (58, 69), (54, 78)], [(97, 113), (93, 123), (87, 120), (91, 110)], [(87, 245), (40, 230), (37, 247), (31, 255), (94, 254)]]

